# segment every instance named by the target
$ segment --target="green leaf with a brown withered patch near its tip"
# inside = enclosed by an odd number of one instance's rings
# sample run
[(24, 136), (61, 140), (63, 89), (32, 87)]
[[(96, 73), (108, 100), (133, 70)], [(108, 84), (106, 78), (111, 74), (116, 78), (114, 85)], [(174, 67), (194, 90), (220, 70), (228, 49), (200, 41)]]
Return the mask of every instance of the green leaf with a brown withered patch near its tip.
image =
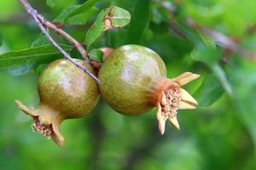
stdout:
[(130, 21), (130, 14), (123, 8), (111, 6), (105, 8), (98, 14), (95, 23), (86, 33), (85, 43), (89, 47), (96, 38), (102, 35), (103, 31), (114, 27), (126, 26)]

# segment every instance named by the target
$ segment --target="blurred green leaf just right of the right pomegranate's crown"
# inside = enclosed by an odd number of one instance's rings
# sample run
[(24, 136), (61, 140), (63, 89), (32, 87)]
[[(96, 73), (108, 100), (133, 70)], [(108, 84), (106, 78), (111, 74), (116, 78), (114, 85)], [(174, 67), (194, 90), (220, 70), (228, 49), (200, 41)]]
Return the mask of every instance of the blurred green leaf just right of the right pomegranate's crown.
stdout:
[(224, 94), (222, 85), (215, 75), (207, 75), (201, 87), (195, 92), (195, 99), (200, 106), (209, 106), (216, 102)]

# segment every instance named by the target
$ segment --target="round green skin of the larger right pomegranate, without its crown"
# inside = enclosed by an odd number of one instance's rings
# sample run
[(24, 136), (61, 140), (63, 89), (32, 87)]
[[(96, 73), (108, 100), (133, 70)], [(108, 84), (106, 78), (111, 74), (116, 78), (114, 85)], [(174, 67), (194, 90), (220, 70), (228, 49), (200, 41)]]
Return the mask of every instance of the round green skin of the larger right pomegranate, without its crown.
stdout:
[(154, 107), (147, 94), (154, 82), (166, 77), (166, 65), (149, 48), (124, 45), (108, 55), (98, 77), (108, 105), (124, 115), (139, 115)]

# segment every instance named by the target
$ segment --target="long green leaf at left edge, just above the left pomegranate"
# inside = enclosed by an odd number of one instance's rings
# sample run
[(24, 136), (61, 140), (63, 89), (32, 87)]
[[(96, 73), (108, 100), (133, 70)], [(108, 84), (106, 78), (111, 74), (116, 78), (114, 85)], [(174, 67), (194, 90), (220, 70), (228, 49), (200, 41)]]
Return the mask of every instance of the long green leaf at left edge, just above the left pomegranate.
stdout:
[[(66, 51), (71, 49), (66, 45), (61, 45), (61, 48)], [(9, 51), (0, 54), (0, 73), (22, 75), (39, 64), (49, 63), (54, 59), (61, 58), (61, 56), (62, 54), (52, 45)]]

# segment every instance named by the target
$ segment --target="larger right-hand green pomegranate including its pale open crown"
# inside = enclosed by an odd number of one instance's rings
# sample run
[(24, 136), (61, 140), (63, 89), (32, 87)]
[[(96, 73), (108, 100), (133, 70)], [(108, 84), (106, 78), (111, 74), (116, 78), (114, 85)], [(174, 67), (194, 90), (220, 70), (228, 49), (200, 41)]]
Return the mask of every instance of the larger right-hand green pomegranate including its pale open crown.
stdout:
[(199, 75), (185, 72), (169, 79), (158, 54), (139, 45), (125, 45), (108, 55), (99, 75), (102, 98), (115, 111), (134, 116), (157, 107), (160, 133), (166, 120), (179, 129), (177, 109), (194, 109), (196, 100), (183, 88)]

